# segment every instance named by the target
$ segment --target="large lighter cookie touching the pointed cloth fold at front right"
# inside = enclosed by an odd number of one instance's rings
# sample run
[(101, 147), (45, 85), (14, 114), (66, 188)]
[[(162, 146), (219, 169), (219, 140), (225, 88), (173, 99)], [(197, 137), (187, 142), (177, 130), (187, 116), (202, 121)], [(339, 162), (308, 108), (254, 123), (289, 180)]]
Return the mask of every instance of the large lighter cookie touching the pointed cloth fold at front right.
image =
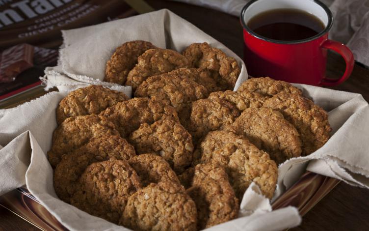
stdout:
[(267, 198), (272, 198), (278, 168), (269, 155), (246, 138), (230, 131), (210, 132), (200, 145), (201, 163), (223, 166), (239, 201), (255, 182)]

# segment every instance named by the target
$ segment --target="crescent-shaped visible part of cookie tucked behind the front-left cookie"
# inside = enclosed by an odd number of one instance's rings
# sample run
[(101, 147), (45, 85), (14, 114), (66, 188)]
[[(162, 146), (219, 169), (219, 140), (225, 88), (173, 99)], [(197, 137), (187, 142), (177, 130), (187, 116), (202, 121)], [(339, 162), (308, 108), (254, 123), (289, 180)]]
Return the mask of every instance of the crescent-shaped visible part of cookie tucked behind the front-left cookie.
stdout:
[(63, 155), (54, 171), (54, 189), (64, 202), (70, 202), (76, 183), (92, 163), (108, 159), (129, 160), (135, 156), (134, 147), (120, 136), (93, 138), (89, 143)]

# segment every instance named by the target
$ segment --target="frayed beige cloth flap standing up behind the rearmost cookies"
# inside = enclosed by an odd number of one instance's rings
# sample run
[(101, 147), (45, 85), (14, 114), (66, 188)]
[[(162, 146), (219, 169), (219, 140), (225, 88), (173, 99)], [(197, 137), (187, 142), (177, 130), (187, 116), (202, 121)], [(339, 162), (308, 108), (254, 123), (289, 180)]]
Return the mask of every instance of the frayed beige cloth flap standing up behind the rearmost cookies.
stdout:
[(46, 89), (58, 87), (59, 91), (67, 91), (86, 84), (97, 84), (115, 87), (130, 95), (131, 87), (102, 81), (106, 61), (115, 48), (124, 42), (138, 39), (150, 41), (159, 48), (180, 52), (191, 43), (207, 41), (228, 56), (235, 57), (238, 65), (242, 67), (240, 76), (247, 78), (246, 67), (241, 58), (169, 10), (159, 10), (144, 16), (139, 15), (81, 29), (63, 30), (62, 34), (64, 42), (58, 66), (45, 70), (43, 80)]

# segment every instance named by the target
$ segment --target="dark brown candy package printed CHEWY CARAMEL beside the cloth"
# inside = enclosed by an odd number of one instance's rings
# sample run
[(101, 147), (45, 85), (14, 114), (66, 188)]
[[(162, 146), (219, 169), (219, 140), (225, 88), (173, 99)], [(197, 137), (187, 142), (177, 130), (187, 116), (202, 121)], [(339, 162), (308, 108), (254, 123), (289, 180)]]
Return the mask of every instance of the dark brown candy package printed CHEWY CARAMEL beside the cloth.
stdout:
[(138, 14), (125, 1), (43, 0), (0, 2), (0, 101), (41, 85), (56, 65), (61, 29)]

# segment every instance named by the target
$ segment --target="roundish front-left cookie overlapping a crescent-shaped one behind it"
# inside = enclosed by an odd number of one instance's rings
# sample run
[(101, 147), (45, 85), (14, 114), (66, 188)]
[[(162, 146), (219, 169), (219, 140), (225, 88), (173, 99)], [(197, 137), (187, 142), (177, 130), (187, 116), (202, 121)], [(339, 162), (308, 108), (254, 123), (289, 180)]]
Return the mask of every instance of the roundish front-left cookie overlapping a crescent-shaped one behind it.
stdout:
[(126, 161), (97, 162), (88, 166), (79, 178), (79, 189), (71, 204), (118, 224), (129, 197), (141, 188), (139, 176)]

